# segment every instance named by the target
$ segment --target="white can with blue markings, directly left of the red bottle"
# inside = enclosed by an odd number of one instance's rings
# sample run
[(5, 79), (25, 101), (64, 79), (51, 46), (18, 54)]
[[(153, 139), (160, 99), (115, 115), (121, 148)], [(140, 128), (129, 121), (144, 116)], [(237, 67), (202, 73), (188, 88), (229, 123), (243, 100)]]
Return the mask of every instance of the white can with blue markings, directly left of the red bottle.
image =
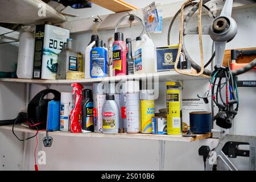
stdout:
[(60, 93), (60, 131), (69, 131), (69, 114), (73, 109), (73, 96), (70, 92)]

